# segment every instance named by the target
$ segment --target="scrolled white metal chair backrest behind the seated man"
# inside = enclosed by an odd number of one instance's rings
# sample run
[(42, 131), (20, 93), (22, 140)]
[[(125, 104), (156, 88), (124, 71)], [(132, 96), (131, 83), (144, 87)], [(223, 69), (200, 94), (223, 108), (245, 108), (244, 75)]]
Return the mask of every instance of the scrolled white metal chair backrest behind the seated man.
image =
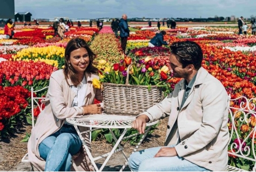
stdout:
[[(235, 162), (241, 162), (242, 164), (240, 164), (240, 166), (242, 166), (243, 169), (254, 169), (254, 171), (256, 162), (254, 147), (256, 143), (255, 108), (255, 98), (247, 99), (246, 97), (239, 97), (236, 99), (231, 99), (230, 97), (230, 107), (228, 109), (230, 120), (228, 121), (228, 128), (230, 130), (228, 156), (230, 156), (231, 162), (233, 159), (237, 159), (233, 160), (233, 164), (238, 164)], [(253, 169), (249, 169), (252, 167)]]

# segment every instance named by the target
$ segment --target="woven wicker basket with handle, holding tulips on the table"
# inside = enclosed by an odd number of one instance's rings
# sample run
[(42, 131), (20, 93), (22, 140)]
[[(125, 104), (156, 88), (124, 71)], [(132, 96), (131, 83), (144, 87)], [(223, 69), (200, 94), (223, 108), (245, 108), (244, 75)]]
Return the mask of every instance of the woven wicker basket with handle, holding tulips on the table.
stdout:
[(125, 84), (102, 83), (104, 113), (138, 115), (161, 101), (161, 88), (151, 86), (149, 91), (147, 86), (129, 84), (131, 65), (127, 67)]

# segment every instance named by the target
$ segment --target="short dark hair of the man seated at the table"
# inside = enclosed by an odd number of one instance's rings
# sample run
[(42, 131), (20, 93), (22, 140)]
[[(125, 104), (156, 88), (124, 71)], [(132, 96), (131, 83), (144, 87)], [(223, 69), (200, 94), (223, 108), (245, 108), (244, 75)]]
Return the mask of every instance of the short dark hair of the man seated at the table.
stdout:
[(194, 65), (196, 70), (199, 70), (201, 67), (203, 51), (197, 43), (190, 40), (176, 42), (170, 46), (170, 49), (183, 68), (190, 64)]

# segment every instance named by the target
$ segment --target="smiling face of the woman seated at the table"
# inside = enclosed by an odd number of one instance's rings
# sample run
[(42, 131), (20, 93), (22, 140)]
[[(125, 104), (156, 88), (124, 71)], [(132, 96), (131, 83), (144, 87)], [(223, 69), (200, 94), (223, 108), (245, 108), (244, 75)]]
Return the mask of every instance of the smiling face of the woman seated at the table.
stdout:
[(72, 65), (79, 74), (84, 74), (89, 63), (89, 54), (85, 48), (80, 48), (70, 53), (69, 64)]

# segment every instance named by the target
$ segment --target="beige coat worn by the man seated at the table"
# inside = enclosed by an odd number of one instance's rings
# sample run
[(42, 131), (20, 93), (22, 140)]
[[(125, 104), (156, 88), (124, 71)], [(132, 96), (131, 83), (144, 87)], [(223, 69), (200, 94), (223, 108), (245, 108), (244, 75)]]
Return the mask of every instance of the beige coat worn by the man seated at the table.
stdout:
[(142, 114), (151, 121), (170, 115), (166, 139), (170, 133), (172, 139), (166, 145), (176, 145), (180, 157), (198, 166), (225, 171), (229, 139), (227, 92), (219, 80), (201, 67), (184, 106), (180, 107), (184, 81), (176, 85), (169, 97)]

